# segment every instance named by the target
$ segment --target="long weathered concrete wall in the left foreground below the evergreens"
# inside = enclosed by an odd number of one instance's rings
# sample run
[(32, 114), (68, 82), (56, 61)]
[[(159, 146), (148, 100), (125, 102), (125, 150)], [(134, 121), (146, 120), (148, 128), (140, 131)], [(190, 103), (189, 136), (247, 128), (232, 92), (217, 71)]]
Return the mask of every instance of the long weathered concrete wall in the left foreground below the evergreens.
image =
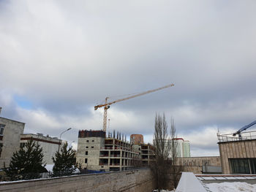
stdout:
[(104, 174), (87, 174), (73, 177), (59, 177), (46, 180), (31, 180), (15, 183), (1, 183), (0, 191), (138, 191), (151, 192), (154, 180), (150, 169), (140, 169)]

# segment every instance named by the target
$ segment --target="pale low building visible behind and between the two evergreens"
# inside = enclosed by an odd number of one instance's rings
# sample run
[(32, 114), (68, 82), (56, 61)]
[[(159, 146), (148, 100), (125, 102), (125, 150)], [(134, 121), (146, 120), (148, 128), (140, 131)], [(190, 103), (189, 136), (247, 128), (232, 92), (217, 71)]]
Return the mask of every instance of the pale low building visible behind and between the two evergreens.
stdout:
[(29, 139), (35, 141), (40, 147), (42, 147), (42, 152), (44, 153), (43, 162), (45, 164), (53, 164), (52, 157), (61, 147), (61, 139), (57, 137), (44, 136), (43, 134), (21, 134), (20, 135), (20, 146), (25, 145)]

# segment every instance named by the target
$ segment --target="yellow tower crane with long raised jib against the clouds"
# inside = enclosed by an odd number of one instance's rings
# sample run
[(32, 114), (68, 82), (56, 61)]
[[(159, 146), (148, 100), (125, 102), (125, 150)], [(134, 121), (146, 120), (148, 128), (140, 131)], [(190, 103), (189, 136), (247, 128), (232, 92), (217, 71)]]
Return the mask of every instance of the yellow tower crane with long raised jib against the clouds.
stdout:
[(110, 108), (110, 104), (115, 104), (115, 103), (120, 102), (120, 101), (124, 101), (124, 100), (127, 100), (127, 99), (132, 99), (132, 98), (135, 98), (137, 96), (143, 96), (143, 95), (146, 95), (148, 93), (159, 91), (159, 90), (164, 89), (164, 88), (170, 88), (172, 86), (174, 86), (174, 84), (165, 85), (162, 88), (156, 88), (156, 89), (153, 89), (153, 90), (145, 91), (143, 93), (138, 93), (138, 94), (135, 94), (133, 96), (128, 96), (128, 97), (125, 97), (123, 99), (118, 99), (116, 101), (111, 101), (111, 102), (108, 102), (109, 97), (106, 97), (105, 98), (105, 104), (99, 104), (97, 106), (94, 106), (94, 110), (97, 110), (100, 107), (104, 107), (103, 131), (106, 131), (106, 129), (107, 129), (107, 117), (108, 117), (108, 109)]

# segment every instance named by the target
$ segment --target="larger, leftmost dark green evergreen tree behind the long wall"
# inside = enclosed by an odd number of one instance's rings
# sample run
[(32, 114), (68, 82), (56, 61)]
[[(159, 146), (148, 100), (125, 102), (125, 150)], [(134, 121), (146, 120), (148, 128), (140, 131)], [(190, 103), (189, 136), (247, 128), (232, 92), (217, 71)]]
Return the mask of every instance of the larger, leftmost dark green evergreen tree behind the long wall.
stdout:
[(40, 177), (40, 173), (47, 172), (42, 163), (42, 147), (30, 139), (25, 146), (13, 153), (10, 167), (4, 171), (11, 180), (30, 180)]

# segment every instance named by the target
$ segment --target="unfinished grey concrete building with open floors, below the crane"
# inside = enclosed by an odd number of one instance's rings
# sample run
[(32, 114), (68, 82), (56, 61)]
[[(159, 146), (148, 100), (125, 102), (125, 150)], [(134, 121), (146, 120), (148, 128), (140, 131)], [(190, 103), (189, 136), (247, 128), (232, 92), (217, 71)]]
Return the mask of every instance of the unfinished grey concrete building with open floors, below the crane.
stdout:
[(120, 137), (106, 138), (105, 131), (79, 131), (77, 163), (83, 169), (119, 171), (140, 163), (140, 154)]

